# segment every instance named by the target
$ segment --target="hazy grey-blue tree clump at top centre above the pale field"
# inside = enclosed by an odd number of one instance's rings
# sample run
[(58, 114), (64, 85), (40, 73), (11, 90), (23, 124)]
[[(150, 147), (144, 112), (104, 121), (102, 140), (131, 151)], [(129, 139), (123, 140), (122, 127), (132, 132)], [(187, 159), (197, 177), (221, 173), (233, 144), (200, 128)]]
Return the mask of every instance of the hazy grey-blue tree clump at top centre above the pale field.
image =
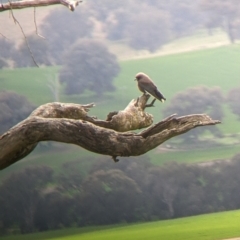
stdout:
[(135, 49), (152, 52), (173, 37), (196, 31), (203, 22), (199, 0), (89, 2), (92, 16), (110, 40), (124, 40)]

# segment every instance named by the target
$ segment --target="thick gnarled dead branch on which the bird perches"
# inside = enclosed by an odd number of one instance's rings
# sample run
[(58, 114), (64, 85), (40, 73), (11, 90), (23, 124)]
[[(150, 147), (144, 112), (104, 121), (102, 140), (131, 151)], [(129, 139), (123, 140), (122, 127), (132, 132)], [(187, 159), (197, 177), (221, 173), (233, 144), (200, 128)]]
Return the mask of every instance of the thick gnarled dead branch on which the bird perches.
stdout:
[[(0, 169), (27, 156), (41, 141), (75, 144), (118, 161), (117, 156), (142, 155), (195, 127), (220, 123), (206, 114), (194, 114), (172, 115), (152, 125), (153, 116), (145, 112), (148, 99), (149, 95), (143, 95), (132, 100), (124, 110), (109, 113), (105, 121), (88, 116), (94, 104), (42, 105), (0, 136)], [(146, 127), (139, 133), (129, 132)]]

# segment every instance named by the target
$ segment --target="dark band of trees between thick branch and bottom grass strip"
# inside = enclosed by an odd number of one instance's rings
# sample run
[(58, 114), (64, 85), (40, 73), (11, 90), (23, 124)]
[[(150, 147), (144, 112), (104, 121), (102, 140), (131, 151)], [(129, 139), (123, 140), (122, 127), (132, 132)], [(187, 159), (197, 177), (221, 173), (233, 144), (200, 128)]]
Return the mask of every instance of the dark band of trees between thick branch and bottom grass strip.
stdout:
[[(177, 159), (176, 159), (177, 160)], [(146, 158), (81, 160), (14, 172), (0, 185), (0, 231), (29, 233), (172, 219), (240, 208), (240, 155), (209, 164), (155, 166)]]

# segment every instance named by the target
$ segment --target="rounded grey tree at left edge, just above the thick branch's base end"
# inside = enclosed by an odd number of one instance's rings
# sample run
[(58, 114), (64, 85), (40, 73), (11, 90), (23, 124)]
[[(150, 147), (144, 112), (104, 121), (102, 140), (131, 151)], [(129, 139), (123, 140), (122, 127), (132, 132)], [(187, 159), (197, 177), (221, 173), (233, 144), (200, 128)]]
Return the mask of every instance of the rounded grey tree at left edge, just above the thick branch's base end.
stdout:
[(0, 91), (0, 134), (25, 119), (34, 108), (24, 96)]

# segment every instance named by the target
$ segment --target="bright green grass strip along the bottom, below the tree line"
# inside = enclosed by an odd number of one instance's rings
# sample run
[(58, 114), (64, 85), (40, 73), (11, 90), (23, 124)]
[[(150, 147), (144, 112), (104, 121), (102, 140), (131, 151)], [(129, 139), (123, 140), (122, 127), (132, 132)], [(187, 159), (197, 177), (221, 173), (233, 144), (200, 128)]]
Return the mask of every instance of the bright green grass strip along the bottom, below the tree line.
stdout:
[(141, 224), (64, 229), (2, 240), (220, 240), (240, 236), (239, 218), (238, 210)]

